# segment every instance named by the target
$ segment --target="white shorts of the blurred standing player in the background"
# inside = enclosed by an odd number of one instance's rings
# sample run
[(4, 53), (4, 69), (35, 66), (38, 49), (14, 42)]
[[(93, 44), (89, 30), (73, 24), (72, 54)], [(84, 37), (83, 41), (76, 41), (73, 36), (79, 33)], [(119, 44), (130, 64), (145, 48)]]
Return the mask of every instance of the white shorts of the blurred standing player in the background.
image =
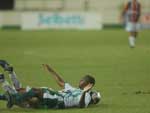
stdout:
[(127, 22), (125, 29), (128, 32), (136, 32), (136, 31), (140, 30), (140, 24), (139, 23), (133, 23), (133, 22)]

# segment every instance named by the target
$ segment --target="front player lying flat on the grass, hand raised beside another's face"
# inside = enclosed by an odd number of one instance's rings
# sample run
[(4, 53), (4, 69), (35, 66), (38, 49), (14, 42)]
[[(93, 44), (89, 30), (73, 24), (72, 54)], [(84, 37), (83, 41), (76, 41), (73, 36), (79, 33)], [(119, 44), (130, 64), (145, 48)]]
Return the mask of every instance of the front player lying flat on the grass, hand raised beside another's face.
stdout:
[(70, 107), (87, 107), (89, 104), (97, 104), (100, 100), (100, 95), (97, 92), (92, 92), (91, 95), (87, 92), (91, 88), (91, 84), (87, 85), (84, 90), (74, 89), (64, 92), (55, 92), (50, 89), (32, 88), (25, 93), (15, 93), (6, 95), (8, 105), (11, 108), (13, 105), (18, 105), (25, 108), (70, 108)]

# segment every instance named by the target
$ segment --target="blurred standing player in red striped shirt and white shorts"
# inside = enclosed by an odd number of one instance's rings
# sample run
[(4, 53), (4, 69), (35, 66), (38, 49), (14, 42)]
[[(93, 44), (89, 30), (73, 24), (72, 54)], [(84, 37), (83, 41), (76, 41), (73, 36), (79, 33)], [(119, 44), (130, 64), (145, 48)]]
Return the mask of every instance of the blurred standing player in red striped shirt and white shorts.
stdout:
[(141, 15), (141, 4), (138, 0), (130, 0), (122, 11), (122, 17), (125, 22), (126, 30), (130, 33), (129, 45), (135, 47), (135, 40), (139, 30), (139, 18)]

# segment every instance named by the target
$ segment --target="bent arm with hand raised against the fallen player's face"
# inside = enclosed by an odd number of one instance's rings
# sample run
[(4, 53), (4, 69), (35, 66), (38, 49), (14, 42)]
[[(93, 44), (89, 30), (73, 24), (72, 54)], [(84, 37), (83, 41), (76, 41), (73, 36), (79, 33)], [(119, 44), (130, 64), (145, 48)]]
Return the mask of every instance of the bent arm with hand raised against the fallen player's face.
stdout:
[(91, 88), (92, 88), (93, 84), (88, 84), (84, 90), (83, 90), (83, 93), (82, 93), (82, 96), (80, 98), (80, 102), (79, 102), (79, 107), (80, 108), (84, 108), (84, 107), (87, 107), (87, 103), (85, 103), (85, 97), (86, 97), (86, 92), (88, 92)]

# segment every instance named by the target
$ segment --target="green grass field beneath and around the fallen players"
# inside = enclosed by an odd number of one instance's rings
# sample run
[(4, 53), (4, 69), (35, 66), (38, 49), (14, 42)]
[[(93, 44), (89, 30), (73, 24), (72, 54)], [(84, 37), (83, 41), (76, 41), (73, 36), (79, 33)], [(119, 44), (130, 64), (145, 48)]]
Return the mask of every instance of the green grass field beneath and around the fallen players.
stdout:
[[(150, 113), (150, 31), (141, 31), (132, 49), (127, 37), (121, 29), (1, 30), (0, 59), (13, 64), (24, 87), (48, 86), (59, 90), (41, 66), (48, 63), (74, 86), (85, 74), (93, 74), (94, 89), (101, 92), (102, 100), (96, 106), (66, 110), (9, 110), (5, 102), (0, 102), (0, 113)], [(0, 71), (3, 72), (2, 68)]]

